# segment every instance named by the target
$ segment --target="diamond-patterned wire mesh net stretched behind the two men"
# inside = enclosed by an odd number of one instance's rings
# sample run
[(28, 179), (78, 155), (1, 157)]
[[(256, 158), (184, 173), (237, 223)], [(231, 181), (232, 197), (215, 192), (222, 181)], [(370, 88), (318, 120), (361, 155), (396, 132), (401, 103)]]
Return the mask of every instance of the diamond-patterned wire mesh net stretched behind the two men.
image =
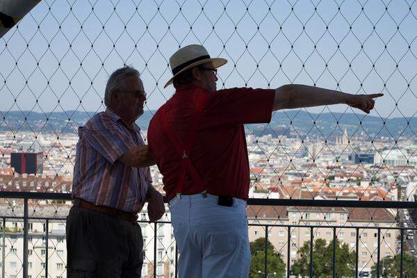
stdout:
[[(146, 140), (150, 117), (174, 92), (163, 89), (172, 76), (169, 57), (197, 43), (211, 56), (229, 60), (218, 72), (218, 88), (303, 83), (354, 94), (384, 93), (370, 115), (323, 106), (278, 111), (270, 124), (245, 126), (250, 197), (414, 201), (415, 9), (415, 1), (406, 0), (41, 1), (0, 39), (1, 190), (70, 192), (77, 128), (104, 110), (106, 79), (123, 65), (136, 67), (145, 84), (147, 111), (138, 124)], [(26, 156), (19, 156), (22, 152)], [(42, 156), (36, 174), (19, 174), (22, 169), (12, 163), (30, 163), (27, 153)], [(156, 167), (152, 176), (161, 187)], [(65, 218), (70, 206), (68, 201), (29, 202), (35, 218), (28, 244), (31, 277), (44, 277), (47, 259), (49, 277), (65, 277), (66, 252), (60, 247), (65, 221), (51, 220), (49, 252), (42, 254), (47, 229), (41, 218)], [(7, 220), (2, 225), (5, 277), (22, 275), (22, 207), (16, 199), (1, 204)], [(417, 216), (406, 210), (300, 206), (250, 206), (247, 213), (252, 224), (279, 225), (270, 227), (272, 253), (286, 264), (289, 250), (294, 273), (308, 255), (303, 245), (311, 238), (309, 226), (320, 226), (313, 229), (313, 247), (322, 244), (318, 239), (325, 246), (334, 240), (345, 243), (347, 251), (359, 252), (349, 253), (359, 256), (359, 271), (371, 272), (376, 230), (355, 227), (415, 227)], [(162, 220), (169, 222), (169, 214)], [(142, 275), (172, 277), (176, 259), (170, 224), (141, 225)], [(306, 228), (291, 228), (288, 241), (283, 225)], [(251, 240), (265, 233), (265, 227), (250, 227)], [(380, 230), (381, 259), (398, 255), (399, 235), (396, 229)], [(414, 233), (404, 231), (403, 240), (412, 254)]]

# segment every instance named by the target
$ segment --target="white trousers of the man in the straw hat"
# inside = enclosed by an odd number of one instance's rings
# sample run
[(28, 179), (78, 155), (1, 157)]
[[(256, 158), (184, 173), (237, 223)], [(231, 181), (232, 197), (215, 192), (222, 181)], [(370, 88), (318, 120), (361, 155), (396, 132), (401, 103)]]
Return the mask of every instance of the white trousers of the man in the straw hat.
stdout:
[(179, 278), (249, 276), (250, 244), (246, 202), (219, 206), (218, 197), (201, 194), (170, 201), (174, 237), (179, 250)]

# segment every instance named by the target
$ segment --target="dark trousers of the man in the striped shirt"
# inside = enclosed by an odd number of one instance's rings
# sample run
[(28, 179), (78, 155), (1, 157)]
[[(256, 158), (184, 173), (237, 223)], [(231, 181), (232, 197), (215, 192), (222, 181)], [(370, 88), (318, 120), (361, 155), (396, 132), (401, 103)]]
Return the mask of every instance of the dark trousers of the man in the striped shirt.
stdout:
[(139, 278), (143, 238), (137, 223), (73, 206), (67, 216), (67, 278)]

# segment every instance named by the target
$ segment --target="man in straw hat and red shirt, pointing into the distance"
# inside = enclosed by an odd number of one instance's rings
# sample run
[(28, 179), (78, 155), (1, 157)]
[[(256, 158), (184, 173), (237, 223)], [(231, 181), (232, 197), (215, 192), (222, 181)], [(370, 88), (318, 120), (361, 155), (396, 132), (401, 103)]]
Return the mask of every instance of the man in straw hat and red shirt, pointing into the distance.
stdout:
[(276, 90), (216, 90), (217, 68), (201, 45), (170, 58), (175, 94), (148, 129), (149, 151), (163, 174), (179, 248), (179, 277), (248, 277), (245, 214), (250, 186), (243, 124), (270, 122), (272, 111), (347, 104), (369, 113), (376, 95), (350, 95), (306, 85)]

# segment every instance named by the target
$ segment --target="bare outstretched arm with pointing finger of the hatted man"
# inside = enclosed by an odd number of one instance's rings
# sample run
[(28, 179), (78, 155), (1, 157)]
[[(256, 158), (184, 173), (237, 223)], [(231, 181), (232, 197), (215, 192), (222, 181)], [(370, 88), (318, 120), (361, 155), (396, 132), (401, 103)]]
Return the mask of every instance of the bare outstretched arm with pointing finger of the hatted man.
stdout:
[(288, 84), (275, 90), (273, 110), (302, 108), (332, 104), (347, 104), (370, 113), (375, 105), (375, 98), (383, 94), (352, 95), (336, 90), (327, 90), (309, 85)]

